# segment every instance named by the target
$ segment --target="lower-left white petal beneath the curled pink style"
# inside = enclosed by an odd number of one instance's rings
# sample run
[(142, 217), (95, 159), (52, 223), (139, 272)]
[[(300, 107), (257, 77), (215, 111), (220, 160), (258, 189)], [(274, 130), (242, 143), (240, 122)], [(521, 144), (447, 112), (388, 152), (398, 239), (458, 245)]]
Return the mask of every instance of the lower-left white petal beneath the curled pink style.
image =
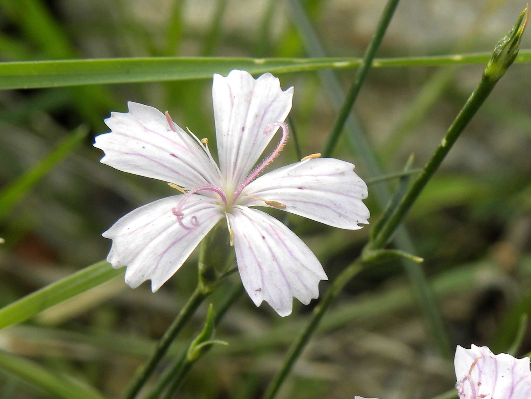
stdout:
[(183, 223), (191, 226), (195, 216), (199, 224), (186, 230), (172, 212), (183, 197), (162, 198), (136, 208), (102, 234), (113, 240), (107, 261), (114, 268), (127, 266), (125, 282), (131, 287), (150, 279), (152, 291), (157, 291), (224, 216), (215, 199), (193, 195), (182, 208)]

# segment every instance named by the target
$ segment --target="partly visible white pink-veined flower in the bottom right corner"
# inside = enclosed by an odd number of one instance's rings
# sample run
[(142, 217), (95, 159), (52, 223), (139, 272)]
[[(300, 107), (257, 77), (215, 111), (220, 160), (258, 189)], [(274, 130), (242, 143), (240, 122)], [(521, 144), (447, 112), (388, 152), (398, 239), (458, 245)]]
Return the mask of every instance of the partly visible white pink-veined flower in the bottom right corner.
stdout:
[(457, 346), (454, 359), (461, 399), (524, 399), (531, 397), (529, 358), (495, 355), (487, 346)]

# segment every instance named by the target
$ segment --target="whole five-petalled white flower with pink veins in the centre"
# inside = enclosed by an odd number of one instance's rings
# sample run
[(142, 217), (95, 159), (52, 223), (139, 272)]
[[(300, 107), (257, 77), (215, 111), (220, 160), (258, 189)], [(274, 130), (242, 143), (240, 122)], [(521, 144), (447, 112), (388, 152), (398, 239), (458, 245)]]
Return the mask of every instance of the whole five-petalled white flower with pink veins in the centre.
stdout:
[[(208, 140), (184, 132), (168, 113), (138, 103), (128, 103), (128, 113), (111, 113), (105, 120), (111, 132), (94, 144), (105, 151), (101, 162), (183, 192), (131, 211), (102, 234), (113, 240), (110, 264), (127, 266), (127, 284), (134, 288), (150, 279), (157, 291), (226, 218), (243, 285), (256, 306), (265, 300), (287, 316), (294, 297), (305, 304), (318, 298), (319, 282), (327, 279), (319, 260), (285, 225), (251, 207), (279, 208), (356, 230), (369, 223), (362, 202), (367, 186), (353, 164), (319, 154), (258, 177), (286, 143), (284, 120), (292, 98), (293, 87), (282, 91), (270, 73), (258, 79), (245, 71), (215, 74), (219, 167)], [(252, 171), (279, 128), (275, 151)]]

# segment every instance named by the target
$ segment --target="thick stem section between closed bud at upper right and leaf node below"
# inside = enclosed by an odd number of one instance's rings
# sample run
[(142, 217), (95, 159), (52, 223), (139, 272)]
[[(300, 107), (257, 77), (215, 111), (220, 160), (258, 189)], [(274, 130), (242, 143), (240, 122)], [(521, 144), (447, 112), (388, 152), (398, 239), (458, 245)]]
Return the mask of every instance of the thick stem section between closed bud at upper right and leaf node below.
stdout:
[(382, 229), (375, 237), (374, 241), (370, 243), (371, 249), (383, 248), (384, 245), (387, 244), (391, 235), (395, 232), (398, 225), (402, 222), (402, 219), (406, 216), (409, 208), (413, 205), (413, 202), (418, 198), (427, 182), (441, 165), (444, 157), (448, 154), (448, 151), (450, 151), (453, 144), (459, 138), (461, 132), (463, 132), (485, 99), (489, 97), (496, 82), (497, 80), (493, 81), (483, 74), (478, 86), (451, 124), (450, 128), (444, 135), (444, 138), (441, 140), (439, 147), (437, 147), (430, 160), (424, 166), (422, 173), (417, 177), (404, 198), (402, 198), (395, 211), (393, 211), (389, 217), (387, 223), (382, 226)]

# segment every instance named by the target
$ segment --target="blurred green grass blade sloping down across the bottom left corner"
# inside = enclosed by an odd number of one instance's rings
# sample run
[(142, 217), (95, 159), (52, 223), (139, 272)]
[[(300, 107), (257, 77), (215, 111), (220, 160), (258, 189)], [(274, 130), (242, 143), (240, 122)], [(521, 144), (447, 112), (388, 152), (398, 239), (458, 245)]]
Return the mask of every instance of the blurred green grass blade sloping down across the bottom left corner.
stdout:
[(46, 370), (39, 364), (0, 351), (0, 368), (25, 383), (36, 386), (54, 397), (63, 399), (104, 399), (96, 389)]

